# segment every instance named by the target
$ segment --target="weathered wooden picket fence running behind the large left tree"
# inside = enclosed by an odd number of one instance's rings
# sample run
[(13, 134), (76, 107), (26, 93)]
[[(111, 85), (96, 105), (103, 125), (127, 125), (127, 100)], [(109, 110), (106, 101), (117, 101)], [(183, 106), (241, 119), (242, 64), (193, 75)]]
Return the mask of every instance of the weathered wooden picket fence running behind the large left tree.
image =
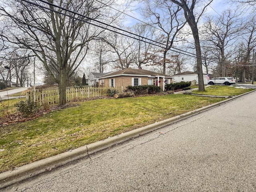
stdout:
[[(123, 92), (123, 87), (66, 87), (66, 101), (108, 96), (109, 89), (117, 90), (119, 93)], [(42, 105), (43, 101), (47, 101), (49, 104), (58, 104), (60, 102), (59, 89), (47, 88), (44, 90), (36, 90), (35, 92), (31, 90), (26, 93), (26, 99), (35, 100), (40, 103), (40, 105)]]

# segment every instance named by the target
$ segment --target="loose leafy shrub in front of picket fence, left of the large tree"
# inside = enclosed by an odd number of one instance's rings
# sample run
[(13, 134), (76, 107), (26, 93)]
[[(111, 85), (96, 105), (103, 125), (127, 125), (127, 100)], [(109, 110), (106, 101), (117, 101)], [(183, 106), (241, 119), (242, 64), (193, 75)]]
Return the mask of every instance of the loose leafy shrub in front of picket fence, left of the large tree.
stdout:
[(17, 107), (18, 112), (22, 113), (25, 117), (28, 117), (39, 110), (38, 103), (31, 100), (26, 100), (25, 102), (20, 101), (14, 104), (14, 106)]

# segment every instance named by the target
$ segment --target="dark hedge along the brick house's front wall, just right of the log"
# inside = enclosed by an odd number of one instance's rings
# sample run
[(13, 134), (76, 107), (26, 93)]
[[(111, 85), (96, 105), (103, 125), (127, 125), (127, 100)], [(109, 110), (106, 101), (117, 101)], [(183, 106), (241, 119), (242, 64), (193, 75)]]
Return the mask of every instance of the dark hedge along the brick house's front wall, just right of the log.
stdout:
[(161, 88), (154, 85), (127, 86), (126, 91), (134, 94), (154, 94), (161, 91)]

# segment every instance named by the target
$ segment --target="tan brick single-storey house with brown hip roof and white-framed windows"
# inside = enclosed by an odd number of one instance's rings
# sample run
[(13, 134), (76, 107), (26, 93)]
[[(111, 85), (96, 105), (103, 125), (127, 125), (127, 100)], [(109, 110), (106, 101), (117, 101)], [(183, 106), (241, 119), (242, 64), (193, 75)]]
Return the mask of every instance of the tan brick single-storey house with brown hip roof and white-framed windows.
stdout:
[(144, 69), (126, 68), (110, 72), (98, 80), (99, 86), (105, 87), (156, 85), (164, 90), (164, 85), (171, 83), (172, 77)]

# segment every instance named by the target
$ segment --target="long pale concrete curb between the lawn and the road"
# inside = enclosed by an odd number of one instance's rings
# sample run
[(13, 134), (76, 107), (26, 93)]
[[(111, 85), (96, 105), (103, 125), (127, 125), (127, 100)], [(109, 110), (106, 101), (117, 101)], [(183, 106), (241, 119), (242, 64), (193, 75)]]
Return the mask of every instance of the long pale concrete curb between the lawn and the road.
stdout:
[(150, 124), (148, 126), (144, 126), (141, 128), (138, 128), (136, 130), (132, 130), (117, 136), (113, 136), (111, 138), (107, 138), (92, 144), (88, 144), (86, 146), (82, 146), (80, 148), (70, 150), (68, 152), (64, 152), (62, 154), (58, 154), (56, 156), (52, 156), (31, 164), (27, 164), (18, 168), (15, 168), (11, 171), (6, 171), (0, 174), (0, 189), (6, 188), (8, 186), (11, 186), (12, 184), (15, 184), (17, 182), (21, 182), (22, 180), (26, 180), (28, 178), (31, 178), (33, 176), (36, 176), (38, 174), (41, 174), (46, 171), (50, 171), (54, 168), (60, 167), (64, 164), (68, 164), (69, 162), (72, 162), (74, 160), (78, 160), (80, 158), (88, 157), (90, 154), (93, 154), (95, 152), (99, 152), (101, 150), (104, 150), (114, 144), (120, 144), (121, 142), (125, 142), (127, 140), (130, 140), (132, 138), (136, 138), (142, 134), (146, 134), (148, 132), (152, 132), (154, 130), (157, 130), (159, 128), (162, 128), (164, 126), (167, 126), (169, 124), (172, 124), (174, 122), (180, 121), (182, 119), (188, 118), (190, 116), (194, 116), (200, 112), (209, 110), (211, 108), (214, 108), (216, 106), (220, 106), (226, 102), (229, 102), (231, 100), (234, 100), (238, 97), (244, 96), (246, 94), (249, 94), (251, 92), (254, 92), (256, 90), (252, 90), (250, 92), (234, 96), (232, 98), (228, 98), (227, 100), (214, 103), (199, 109), (196, 109), (191, 112), (187, 112), (166, 120), (162, 120), (160, 122), (156, 122), (154, 124)]

